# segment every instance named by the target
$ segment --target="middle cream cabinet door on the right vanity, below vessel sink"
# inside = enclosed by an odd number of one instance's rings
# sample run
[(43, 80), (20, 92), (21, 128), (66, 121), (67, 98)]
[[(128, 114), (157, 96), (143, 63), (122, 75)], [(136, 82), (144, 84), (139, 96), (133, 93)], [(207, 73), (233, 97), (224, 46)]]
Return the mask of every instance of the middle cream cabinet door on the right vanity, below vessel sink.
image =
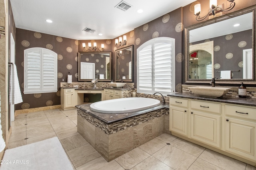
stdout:
[(220, 148), (220, 115), (191, 111), (191, 138)]

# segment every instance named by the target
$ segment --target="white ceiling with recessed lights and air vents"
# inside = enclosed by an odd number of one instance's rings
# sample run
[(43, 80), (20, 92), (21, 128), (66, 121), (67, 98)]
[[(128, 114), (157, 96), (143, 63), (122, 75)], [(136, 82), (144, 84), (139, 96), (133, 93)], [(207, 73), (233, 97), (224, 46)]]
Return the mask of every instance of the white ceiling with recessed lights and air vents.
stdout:
[(132, 5), (126, 12), (114, 8), (121, 0), (10, 0), (16, 28), (77, 40), (114, 39), (196, 0), (124, 1)]

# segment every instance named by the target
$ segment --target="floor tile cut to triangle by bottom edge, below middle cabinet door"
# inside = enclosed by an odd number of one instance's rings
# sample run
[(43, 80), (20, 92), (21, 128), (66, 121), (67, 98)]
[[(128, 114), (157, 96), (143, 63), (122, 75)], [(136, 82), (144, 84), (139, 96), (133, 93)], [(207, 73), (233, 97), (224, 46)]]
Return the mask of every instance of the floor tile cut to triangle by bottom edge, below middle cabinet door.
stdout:
[(188, 170), (223, 170), (222, 168), (215, 166), (209, 162), (206, 162), (200, 158), (197, 158), (196, 161), (188, 168)]

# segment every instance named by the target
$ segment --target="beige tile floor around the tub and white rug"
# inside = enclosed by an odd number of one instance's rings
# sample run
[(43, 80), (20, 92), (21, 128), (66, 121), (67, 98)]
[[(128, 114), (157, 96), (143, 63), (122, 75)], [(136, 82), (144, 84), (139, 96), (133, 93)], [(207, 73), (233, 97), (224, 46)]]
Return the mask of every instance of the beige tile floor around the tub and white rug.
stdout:
[(74, 170), (256, 170), (183, 139), (162, 134), (107, 162), (78, 132), (76, 109), (19, 114), (9, 149), (58, 137)]

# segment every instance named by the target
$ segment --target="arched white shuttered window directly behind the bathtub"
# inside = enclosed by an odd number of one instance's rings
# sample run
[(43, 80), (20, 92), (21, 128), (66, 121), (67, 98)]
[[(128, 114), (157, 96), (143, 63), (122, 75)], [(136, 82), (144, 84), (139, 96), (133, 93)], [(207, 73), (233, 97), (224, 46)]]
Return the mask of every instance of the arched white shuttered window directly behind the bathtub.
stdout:
[(175, 90), (175, 39), (159, 37), (137, 50), (137, 92), (163, 95)]

